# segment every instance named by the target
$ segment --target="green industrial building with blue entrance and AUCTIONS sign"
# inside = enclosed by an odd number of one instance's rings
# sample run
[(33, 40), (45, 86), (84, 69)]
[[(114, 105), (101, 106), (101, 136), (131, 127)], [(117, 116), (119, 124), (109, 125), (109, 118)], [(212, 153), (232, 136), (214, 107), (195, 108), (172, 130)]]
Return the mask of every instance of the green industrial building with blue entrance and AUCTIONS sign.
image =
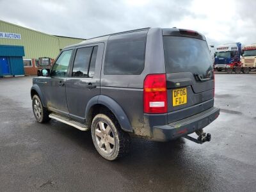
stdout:
[(0, 20), (0, 77), (35, 75), (38, 58), (54, 61), (61, 49), (83, 40), (49, 35)]

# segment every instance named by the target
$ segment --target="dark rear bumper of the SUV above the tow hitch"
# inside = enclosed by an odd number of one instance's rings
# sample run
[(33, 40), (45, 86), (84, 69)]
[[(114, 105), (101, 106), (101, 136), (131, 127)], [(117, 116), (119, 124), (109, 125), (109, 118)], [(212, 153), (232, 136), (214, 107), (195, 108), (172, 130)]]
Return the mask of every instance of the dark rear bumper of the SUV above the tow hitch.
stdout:
[(220, 115), (219, 108), (209, 108), (196, 115), (189, 116), (167, 125), (155, 125), (150, 128), (150, 140), (169, 141), (191, 134), (211, 124)]

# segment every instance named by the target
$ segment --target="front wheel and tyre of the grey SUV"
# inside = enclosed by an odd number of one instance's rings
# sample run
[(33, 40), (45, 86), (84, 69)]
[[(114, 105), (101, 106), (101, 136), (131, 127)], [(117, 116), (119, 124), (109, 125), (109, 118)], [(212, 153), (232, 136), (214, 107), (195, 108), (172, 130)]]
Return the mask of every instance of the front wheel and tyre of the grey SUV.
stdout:
[(41, 99), (40, 97), (38, 97), (38, 95), (33, 96), (32, 108), (37, 122), (44, 124), (51, 120), (51, 118), (49, 118), (48, 110), (44, 108)]

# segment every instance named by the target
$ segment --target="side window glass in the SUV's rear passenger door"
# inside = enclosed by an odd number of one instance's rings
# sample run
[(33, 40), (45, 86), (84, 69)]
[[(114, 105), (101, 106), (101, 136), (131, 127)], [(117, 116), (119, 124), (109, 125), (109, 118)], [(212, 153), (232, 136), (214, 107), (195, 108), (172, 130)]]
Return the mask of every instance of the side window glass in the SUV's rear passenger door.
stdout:
[(72, 77), (93, 77), (98, 46), (77, 49)]

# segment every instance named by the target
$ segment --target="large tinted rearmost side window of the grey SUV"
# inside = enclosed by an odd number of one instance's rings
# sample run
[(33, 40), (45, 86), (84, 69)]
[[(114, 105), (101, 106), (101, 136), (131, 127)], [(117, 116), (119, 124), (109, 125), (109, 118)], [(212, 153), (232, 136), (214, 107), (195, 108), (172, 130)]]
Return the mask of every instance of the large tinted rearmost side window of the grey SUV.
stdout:
[(138, 75), (144, 69), (147, 31), (109, 37), (104, 74)]

